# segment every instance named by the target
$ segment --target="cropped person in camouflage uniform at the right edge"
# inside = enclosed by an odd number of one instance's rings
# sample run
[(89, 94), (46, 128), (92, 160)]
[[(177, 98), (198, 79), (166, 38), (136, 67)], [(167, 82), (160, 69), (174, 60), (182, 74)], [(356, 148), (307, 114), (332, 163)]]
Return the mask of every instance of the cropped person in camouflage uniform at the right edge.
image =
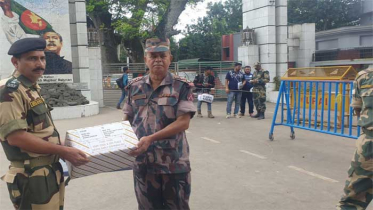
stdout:
[(373, 68), (358, 73), (352, 92), (351, 107), (363, 134), (356, 141), (356, 151), (348, 171), (345, 196), (339, 201), (340, 210), (366, 209), (373, 198)]

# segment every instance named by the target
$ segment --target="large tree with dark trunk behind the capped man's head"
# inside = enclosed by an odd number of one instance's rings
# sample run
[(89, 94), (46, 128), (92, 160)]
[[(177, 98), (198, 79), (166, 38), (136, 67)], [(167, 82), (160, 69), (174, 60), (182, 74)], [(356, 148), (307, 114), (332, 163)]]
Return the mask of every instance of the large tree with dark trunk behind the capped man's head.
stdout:
[(143, 62), (145, 39), (170, 38), (187, 3), (199, 0), (86, 0), (88, 16), (99, 29), (103, 63), (118, 62), (117, 47), (132, 62)]

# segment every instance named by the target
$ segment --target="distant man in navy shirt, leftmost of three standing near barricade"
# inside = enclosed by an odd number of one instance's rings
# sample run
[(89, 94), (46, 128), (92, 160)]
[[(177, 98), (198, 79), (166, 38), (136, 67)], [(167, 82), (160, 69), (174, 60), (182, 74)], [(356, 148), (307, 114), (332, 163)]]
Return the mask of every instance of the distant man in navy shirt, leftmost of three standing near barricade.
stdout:
[(241, 63), (234, 64), (234, 70), (231, 70), (225, 76), (225, 92), (228, 94), (228, 101), (227, 101), (227, 116), (226, 118), (229, 119), (232, 117), (232, 103), (234, 100), (234, 117), (241, 118), (238, 115), (238, 111), (240, 108), (241, 97), (242, 97), (242, 87), (246, 84), (244, 79), (243, 73), (241, 72)]

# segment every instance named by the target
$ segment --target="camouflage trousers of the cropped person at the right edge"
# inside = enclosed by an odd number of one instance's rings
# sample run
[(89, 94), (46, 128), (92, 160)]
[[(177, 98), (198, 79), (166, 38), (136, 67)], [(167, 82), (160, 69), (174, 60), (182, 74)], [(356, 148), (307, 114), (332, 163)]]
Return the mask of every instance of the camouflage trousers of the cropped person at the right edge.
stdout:
[(373, 135), (361, 135), (356, 147), (339, 210), (364, 210), (373, 197)]

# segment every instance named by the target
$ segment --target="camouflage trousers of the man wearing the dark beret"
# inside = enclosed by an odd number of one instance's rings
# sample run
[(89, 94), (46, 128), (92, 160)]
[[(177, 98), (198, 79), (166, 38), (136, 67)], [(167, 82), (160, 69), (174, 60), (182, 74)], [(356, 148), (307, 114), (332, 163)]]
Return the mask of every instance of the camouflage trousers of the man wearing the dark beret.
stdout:
[(11, 167), (2, 177), (7, 182), (10, 200), (15, 209), (61, 210), (63, 209), (65, 183), (60, 163), (24, 168)]

